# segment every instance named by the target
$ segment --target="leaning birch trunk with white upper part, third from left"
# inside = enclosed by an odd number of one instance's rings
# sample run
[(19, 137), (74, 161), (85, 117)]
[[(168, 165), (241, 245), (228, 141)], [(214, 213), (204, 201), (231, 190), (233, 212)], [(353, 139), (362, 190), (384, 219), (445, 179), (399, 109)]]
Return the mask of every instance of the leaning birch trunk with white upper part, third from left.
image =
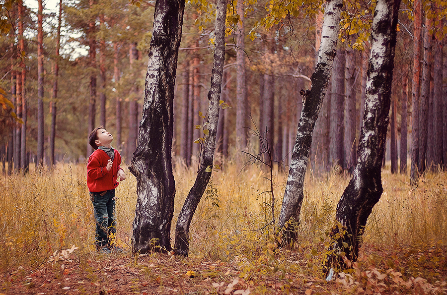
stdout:
[[(315, 66), (315, 71), (310, 77), (312, 86), (310, 91), (306, 90), (301, 92), (303, 93), (303, 106), (298, 123), (297, 138), (292, 152), (292, 160), (289, 166), (286, 192), (284, 193), (283, 205), (278, 222), (278, 228), (282, 231), (284, 238), (283, 244), (288, 244), (291, 242), (291, 239), (296, 239), (295, 223), (299, 221), (299, 211), (303, 198), (304, 176), (307, 168), (310, 145), (312, 143), (312, 133), (332, 71), (342, 6), (342, 0), (327, 1), (321, 31), (322, 38), (318, 61)], [(286, 223), (288, 224), (287, 227)]]

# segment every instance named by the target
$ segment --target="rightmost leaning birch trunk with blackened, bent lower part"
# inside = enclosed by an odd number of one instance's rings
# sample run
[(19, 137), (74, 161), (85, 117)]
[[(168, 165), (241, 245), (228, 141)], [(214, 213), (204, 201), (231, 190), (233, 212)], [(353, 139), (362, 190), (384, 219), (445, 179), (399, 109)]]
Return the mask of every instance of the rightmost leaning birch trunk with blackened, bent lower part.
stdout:
[(334, 263), (344, 266), (342, 257), (336, 255), (339, 251), (345, 252), (351, 261), (357, 259), (367, 219), (383, 191), (381, 166), (389, 122), (399, 4), (400, 0), (377, 0), (375, 7), (357, 165), (337, 205), (336, 218), (342, 228), (336, 226), (332, 231), (333, 255), (329, 256), (327, 268), (334, 267)]

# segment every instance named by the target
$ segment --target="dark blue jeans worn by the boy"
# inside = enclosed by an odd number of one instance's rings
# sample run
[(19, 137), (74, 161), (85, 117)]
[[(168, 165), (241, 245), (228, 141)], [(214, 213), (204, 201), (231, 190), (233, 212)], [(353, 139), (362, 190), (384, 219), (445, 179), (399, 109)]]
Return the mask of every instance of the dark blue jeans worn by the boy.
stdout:
[(96, 219), (96, 249), (111, 246), (112, 236), (116, 234), (115, 189), (90, 192)]

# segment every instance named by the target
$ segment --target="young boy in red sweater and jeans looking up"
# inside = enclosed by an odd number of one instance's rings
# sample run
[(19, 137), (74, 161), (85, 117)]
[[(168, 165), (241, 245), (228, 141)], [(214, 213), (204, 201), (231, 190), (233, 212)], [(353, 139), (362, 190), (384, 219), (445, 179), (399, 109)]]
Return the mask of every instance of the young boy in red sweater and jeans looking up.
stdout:
[(88, 157), (87, 186), (96, 219), (96, 250), (101, 253), (110, 253), (111, 250), (121, 251), (112, 245), (111, 236), (116, 234), (117, 178), (122, 181), (126, 179), (126, 175), (120, 167), (120, 153), (112, 148), (112, 140), (112, 134), (102, 126), (93, 129), (88, 136), (88, 143), (95, 151)]

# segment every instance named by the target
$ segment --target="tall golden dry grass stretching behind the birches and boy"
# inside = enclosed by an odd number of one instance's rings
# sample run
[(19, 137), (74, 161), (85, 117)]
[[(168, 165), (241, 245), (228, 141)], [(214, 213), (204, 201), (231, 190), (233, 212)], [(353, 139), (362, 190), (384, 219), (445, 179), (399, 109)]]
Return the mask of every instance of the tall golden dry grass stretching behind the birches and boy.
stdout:
[[(172, 238), (176, 216), (195, 179), (195, 168), (175, 165), (176, 197)], [(127, 169), (126, 169), (127, 170)], [(274, 218), (278, 217), (287, 173), (276, 172), (275, 217), (271, 216), (267, 174), (256, 165), (242, 172), (227, 163), (213, 172), (212, 181), (192, 221), (190, 256), (222, 261), (250, 263), (267, 259)], [(327, 233), (334, 224), (337, 202), (349, 177), (336, 172), (315, 176), (308, 171), (301, 209), (296, 251), (311, 249), (315, 261), (298, 266), (298, 271), (315, 271), (324, 250)], [(447, 174), (427, 174), (411, 186), (407, 175), (382, 173), (384, 193), (364, 235), (364, 246), (447, 244)], [(117, 188), (117, 238), (128, 247), (135, 215), (136, 180), (129, 172)], [(21, 175), (0, 176), (0, 269), (19, 266), (38, 267), (55, 251), (79, 247), (94, 253), (94, 219), (86, 187), (85, 165), (59, 164), (52, 171), (31, 169)], [(275, 262), (276, 263), (276, 262)], [(242, 271), (244, 268), (242, 267)]]

